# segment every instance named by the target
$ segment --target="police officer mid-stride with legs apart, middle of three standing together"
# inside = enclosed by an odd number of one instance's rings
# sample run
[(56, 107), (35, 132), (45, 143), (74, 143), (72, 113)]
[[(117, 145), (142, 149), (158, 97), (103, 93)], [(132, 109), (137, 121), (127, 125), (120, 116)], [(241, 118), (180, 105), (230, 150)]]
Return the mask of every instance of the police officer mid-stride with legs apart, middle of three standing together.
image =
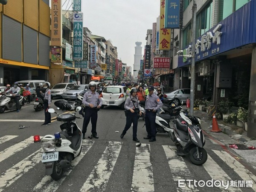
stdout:
[(126, 124), (125, 129), (122, 131), (121, 139), (125, 136), (128, 129), (131, 127), (131, 123), (133, 123), (133, 141), (140, 142), (137, 139), (137, 125), (138, 125), (138, 113), (141, 116), (141, 107), (139, 105), (139, 100), (136, 96), (137, 89), (134, 87), (130, 91), (131, 95), (128, 96), (125, 100), (125, 109), (126, 109)]

